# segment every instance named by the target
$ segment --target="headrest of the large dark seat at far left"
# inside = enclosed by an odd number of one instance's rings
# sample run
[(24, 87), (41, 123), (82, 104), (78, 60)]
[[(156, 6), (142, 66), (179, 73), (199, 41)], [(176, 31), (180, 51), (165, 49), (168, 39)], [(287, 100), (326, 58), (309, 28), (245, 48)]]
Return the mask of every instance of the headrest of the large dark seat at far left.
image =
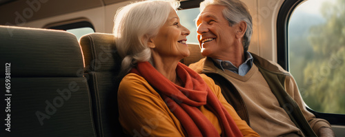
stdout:
[(0, 41), (0, 63), (10, 63), (11, 76), (82, 76), (81, 49), (69, 32), (0, 25)]

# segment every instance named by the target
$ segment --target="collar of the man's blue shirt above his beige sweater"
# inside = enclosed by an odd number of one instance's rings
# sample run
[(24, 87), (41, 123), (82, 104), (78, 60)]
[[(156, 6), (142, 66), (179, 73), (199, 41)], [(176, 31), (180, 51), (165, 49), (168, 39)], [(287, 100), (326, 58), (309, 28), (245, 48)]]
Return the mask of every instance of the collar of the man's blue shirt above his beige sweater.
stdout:
[(221, 61), (220, 59), (213, 59), (213, 61), (215, 62), (215, 65), (223, 71), (230, 70), (231, 72), (239, 74), (240, 76), (244, 76), (253, 66), (253, 56), (249, 52), (246, 52), (245, 57), (246, 61), (239, 65), (239, 68), (233, 65), (233, 63), (231, 63), (230, 61)]

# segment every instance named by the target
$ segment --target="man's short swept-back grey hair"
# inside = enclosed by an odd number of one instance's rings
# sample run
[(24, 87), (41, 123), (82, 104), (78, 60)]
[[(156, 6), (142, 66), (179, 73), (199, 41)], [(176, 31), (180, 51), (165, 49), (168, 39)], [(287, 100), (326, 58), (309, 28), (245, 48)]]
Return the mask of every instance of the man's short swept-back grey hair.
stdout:
[(247, 23), (246, 34), (244, 34), (244, 39), (242, 41), (244, 52), (246, 52), (249, 47), (250, 38), (253, 34), (252, 17), (250, 16), (246, 4), (239, 0), (205, 0), (200, 3), (200, 11), (204, 10), (204, 8), (209, 5), (225, 6), (226, 8), (224, 8), (222, 12), (230, 26), (233, 26), (240, 21)]

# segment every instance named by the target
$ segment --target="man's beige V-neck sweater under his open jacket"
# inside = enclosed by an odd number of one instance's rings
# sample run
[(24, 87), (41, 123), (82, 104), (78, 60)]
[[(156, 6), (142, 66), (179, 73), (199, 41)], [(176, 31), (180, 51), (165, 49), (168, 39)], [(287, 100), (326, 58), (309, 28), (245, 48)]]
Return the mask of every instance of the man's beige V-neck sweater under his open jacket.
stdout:
[(255, 64), (245, 76), (229, 70), (220, 73), (224, 73), (222, 75), (239, 90), (248, 109), (250, 127), (260, 136), (303, 136), (302, 131), (279, 106), (277, 98)]

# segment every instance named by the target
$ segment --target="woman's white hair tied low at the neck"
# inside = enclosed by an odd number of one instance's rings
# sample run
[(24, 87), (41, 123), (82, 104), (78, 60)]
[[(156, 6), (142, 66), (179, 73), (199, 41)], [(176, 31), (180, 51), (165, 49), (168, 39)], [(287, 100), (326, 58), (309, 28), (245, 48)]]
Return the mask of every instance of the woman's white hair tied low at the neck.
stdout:
[(179, 1), (140, 1), (117, 10), (114, 19), (115, 44), (123, 58), (120, 74), (127, 74), (139, 61), (152, 63), (148, 41), (157, 35)]

